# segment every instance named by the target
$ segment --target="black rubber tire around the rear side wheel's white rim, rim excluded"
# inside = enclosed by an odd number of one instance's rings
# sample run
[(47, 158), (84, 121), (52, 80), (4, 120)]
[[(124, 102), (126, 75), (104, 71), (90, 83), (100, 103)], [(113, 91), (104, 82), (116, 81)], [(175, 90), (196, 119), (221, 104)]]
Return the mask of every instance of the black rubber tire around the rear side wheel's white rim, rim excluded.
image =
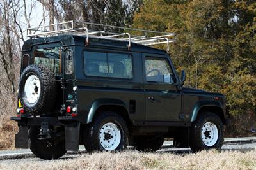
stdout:
[(108, 122), (116, 124), (121, 133), (120, 143), (114, 151), (126, 149), (129, 135), (124, 118), (113, 111), (102, 111), (95, 117), (93, 122), (84, 127), (83, 141), (87, 152), (91, 153), (105, 150), (100, 144), (99, 133), (102, 126)]

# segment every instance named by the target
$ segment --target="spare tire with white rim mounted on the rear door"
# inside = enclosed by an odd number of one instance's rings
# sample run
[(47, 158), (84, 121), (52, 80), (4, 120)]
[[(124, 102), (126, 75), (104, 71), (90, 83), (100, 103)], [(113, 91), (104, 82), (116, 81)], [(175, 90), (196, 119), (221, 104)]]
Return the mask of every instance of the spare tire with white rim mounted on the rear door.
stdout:
[(45, 114), (56, 100), (54, 73), (44, 65), (30, 65), (20, 75), (19, 99), (25, 113)]

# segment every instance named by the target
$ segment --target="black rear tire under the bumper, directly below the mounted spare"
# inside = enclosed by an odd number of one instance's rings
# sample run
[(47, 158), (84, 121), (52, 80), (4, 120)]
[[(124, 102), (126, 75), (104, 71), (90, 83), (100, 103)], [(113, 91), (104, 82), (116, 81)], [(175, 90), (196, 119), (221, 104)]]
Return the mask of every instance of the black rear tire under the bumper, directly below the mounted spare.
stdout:
[(65, 141), (59, 141), (58, 143), (51, 142), (49, 145), (46, 139), (38, 139), (40, 127), (31, 127), (29, 130), (30, 137), (30, 150), (36, 157), (45, 160), (58, 159), (65, 155)]

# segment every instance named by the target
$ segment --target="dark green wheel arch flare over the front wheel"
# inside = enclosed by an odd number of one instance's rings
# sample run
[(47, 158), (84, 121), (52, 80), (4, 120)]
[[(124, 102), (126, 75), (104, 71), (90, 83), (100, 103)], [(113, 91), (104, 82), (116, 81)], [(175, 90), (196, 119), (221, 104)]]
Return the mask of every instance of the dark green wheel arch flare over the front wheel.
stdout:
[(215, 113), (220, 117), (223, 124), (225, 123), (225, 108), (220, 102), (217, 101), (199, 101), (195, 104), (193, 109), (191, 122), (194, 122), (198, 115), (202, 114), (205, 111)]

